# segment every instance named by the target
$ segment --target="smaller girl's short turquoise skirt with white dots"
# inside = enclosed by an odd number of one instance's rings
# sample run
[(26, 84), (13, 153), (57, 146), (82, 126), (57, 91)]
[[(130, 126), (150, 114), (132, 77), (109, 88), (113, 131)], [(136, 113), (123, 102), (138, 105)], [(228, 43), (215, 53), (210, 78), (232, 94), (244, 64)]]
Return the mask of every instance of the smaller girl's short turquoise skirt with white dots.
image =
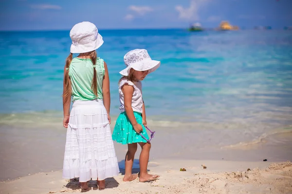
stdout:
[[(134, 112), (134, 116), (138, 124), (142, 125), (142, 134), (146, 139), (149, 139), (144, 125), (142, 124), (142, 114)], [(133, 144), (133, 143), (147, 143), (139, 133), (134, 130), (126, 112), (120, 113), (117, 118), (116, 124), (112, 132), (112, 140), (120, 144)]]

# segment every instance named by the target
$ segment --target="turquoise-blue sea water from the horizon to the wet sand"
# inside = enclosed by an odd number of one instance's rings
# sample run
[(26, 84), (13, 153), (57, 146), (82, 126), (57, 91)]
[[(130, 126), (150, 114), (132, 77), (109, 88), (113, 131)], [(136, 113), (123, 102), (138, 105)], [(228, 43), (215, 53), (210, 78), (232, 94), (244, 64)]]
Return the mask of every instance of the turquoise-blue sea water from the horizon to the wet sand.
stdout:
[[(109, 67), (113, 117), (119, 114), (123, 56), (140, 48), (161, 61), (143, 81), (147, 118), (153, 125), (231, 126), (249, 130), (253, 140), (292, 124), (291, 31), (100, 33), (105, 43), (97, 53)], [(0, 32), (0, 123), (60, 121), (70, 45), (69, 31)]]

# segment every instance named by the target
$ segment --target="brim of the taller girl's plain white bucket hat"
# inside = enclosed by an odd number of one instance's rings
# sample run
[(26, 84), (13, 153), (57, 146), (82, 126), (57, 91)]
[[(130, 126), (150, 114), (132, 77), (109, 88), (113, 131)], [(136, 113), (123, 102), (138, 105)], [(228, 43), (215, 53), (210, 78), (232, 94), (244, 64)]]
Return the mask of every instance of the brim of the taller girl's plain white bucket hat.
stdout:
[(98, 33), (97, 38), (95, 41), (85, 44), (85, 45), (75, 45), (72, 44), (70, 48), (71, 53), (85, 53), (85, 52), (90, 52), (93, 50), (96, 50), (102, 46), (104, 43), (102, 36)]

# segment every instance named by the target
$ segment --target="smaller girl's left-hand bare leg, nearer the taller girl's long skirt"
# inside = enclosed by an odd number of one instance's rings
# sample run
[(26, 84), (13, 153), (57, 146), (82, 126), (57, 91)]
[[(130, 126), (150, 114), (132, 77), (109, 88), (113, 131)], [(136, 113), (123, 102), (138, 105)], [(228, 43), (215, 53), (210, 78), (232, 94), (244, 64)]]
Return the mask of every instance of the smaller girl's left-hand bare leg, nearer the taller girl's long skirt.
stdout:
[(125, 158), (125, 176), (123, 178), (124, 181), (132, 181), (138, 177), (138, 175), (132, 175), (132, 167), (136, 151), (137, 143), (128, 144), (128, 152)]

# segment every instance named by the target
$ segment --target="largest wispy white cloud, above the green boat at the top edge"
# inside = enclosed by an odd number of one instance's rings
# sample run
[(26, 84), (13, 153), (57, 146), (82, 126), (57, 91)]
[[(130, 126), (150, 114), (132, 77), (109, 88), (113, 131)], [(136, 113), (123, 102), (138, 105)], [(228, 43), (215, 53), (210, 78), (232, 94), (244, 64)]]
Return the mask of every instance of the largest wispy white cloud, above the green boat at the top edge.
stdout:
[(198, 10), (201, 5), (207, 0), (191, 0), (188, 8), (183, 8), (181, 5), (175, 6), (175, 9), (179, 12), (179, 18), (199, 20)]

